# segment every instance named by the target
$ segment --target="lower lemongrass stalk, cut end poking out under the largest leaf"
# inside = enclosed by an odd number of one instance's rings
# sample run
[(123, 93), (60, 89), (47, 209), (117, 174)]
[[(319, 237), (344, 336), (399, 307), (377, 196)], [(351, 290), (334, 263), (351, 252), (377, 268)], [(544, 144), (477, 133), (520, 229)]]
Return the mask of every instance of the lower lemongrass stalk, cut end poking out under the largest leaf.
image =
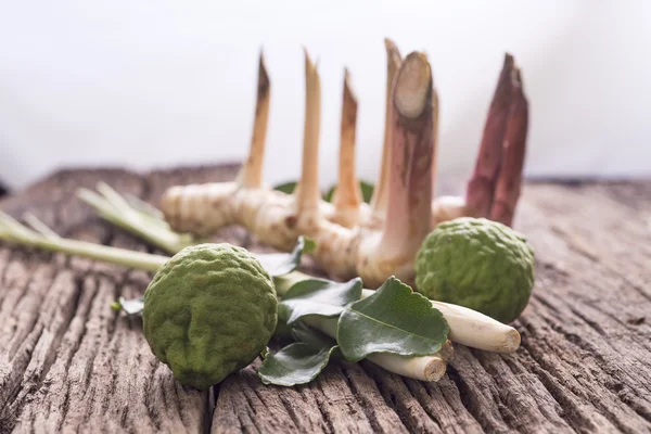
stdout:
[[(336, 340), (336, 318), (322, 318), (307, 316), (303, 321), (332, 339)], [(446, 355), (450, 355), (451, 346), (446, 349)], [(445, 375), (447, 360), (441, 354), (432, 356), (398, 356), (396, 354), (372, 354), (367, 356), (367, 360), (386, 369), (398, 375), (408, 376), (420, 381), (438, 381)]]

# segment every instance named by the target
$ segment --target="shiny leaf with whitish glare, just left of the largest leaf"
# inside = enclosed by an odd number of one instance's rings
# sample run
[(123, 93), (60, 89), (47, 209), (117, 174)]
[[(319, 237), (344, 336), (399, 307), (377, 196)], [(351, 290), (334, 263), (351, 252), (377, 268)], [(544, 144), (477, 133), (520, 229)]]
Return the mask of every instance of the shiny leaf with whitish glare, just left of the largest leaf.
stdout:
[(346, 306), (361, 297), (360, 278), (339, 283), (324, 279), (308, 279), (294, 284), (279, 305), (284, 310), (288, 324), (292, 324), (306, 315), (337, 317)]

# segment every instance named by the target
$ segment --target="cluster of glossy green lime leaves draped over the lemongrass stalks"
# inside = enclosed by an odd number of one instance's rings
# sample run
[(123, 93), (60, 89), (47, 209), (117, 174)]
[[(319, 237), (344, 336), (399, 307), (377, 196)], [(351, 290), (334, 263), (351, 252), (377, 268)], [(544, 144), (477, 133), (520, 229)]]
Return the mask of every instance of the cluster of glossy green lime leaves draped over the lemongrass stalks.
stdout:
[(434, 356), (442, 349), (449, 328), (429, 299), (394, 277), (367, 298), (360, 299), (361, 290), (359, 278), (344, 283), (326, 279), (295, 283), (278, 310), (301, 342), (265, 358), (258, 370), (263, 382), (307, 383), (326, 368), (334, 350), (345, 360), (359, 361), (379, 353), (414, 357)]

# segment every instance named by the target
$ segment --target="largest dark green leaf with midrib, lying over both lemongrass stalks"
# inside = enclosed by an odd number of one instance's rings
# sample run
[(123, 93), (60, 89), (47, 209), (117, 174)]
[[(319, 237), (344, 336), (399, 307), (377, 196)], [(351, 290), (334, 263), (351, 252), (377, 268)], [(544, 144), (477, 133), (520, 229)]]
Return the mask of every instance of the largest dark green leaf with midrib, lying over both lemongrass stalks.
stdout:
[(441, 349), (448, 331), (427, 298), (391, 277), (373, 295), (342, 312), (336, 342), (349, 361), (374, 353), (425, 356)]

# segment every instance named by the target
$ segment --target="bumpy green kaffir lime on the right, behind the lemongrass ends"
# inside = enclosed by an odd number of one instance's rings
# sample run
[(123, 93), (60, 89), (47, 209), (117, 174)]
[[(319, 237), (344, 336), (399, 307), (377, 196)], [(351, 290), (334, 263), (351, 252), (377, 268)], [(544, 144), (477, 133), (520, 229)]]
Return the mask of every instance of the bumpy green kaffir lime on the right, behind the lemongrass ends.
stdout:
[(430, 298), (511, 322), (534, 286), (534, 251), (513, 229), (485, 218), (439, 224), (416, 259), (416, 284)]

